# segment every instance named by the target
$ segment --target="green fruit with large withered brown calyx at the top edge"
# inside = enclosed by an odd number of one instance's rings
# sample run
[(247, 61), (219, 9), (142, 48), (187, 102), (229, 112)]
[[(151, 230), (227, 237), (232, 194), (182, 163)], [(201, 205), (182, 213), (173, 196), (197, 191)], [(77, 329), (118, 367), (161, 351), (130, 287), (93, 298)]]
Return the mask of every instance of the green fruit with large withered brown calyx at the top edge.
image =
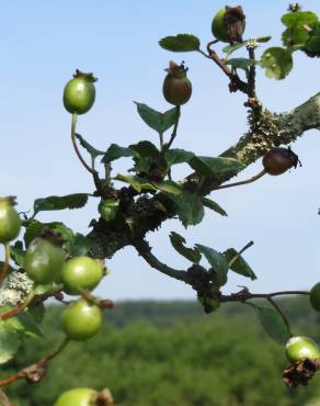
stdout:
[(242, 7), (228, 7), (220, 9), (213, 19), (213, 35), (225, 43), (242, 43), (245, 29), (245, 15)]

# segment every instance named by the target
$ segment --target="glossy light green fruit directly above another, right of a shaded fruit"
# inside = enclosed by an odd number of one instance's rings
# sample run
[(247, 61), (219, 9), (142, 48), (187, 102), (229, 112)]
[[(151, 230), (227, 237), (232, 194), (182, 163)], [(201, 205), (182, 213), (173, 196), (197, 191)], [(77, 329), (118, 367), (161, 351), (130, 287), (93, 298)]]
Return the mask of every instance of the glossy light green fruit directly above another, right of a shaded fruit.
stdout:
[(64, 263), (61, 282), (64, 291), (71, 295), (82, 290), (92, 291), (103, 277), (102, 266), (89, 257), (75, 257)]

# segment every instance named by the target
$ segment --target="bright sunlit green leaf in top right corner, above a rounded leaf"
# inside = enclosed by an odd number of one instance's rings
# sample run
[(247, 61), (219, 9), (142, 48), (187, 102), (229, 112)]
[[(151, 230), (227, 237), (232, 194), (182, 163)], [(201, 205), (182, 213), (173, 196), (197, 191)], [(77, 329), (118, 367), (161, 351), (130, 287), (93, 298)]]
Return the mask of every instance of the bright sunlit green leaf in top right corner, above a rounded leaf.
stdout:
[(284, 14), (282, 22), (287, 27), (282, 35), (283, 44), (285, 46), (305, 45), (310, 37), (308, 30), (316, 29), (318, 18), (311, 11), (297, 11)]

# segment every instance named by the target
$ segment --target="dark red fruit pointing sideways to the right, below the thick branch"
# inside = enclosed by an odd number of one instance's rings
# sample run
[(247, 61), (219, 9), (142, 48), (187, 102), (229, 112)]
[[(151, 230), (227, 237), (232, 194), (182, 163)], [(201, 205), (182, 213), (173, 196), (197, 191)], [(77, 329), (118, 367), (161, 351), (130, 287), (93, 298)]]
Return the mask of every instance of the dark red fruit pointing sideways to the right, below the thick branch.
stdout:
[(282, 174), (288, 169), (297, 168), (299, 161), (298, 156), (290, 148), (272, 148), (262, 159), (264, 170), (268, 174)]

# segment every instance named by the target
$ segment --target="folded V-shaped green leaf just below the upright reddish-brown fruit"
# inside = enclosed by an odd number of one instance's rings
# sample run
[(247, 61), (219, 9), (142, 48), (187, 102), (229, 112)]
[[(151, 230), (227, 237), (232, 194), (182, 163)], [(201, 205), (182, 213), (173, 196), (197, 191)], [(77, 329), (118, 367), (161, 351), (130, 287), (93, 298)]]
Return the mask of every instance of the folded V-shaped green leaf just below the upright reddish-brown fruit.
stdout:
[(164, 113), (149, 108), (147, 104), (134, 102), (137, 105), (137, 111), (144, 122), (156, 129), (157, 133), (163, 134), (176, 121), (176, 108), (170, 109)]

